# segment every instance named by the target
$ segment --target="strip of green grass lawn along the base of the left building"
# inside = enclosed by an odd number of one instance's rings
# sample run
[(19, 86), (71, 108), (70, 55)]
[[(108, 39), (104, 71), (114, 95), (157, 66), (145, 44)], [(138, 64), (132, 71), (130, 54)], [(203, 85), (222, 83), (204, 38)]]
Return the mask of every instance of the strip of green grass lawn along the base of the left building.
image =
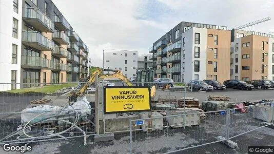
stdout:
[(54, 85), (47, 85), (47, 86), (40, 86), (40, 87), (8, 90), (6, 92), (11, 92), (11, 93), (27, 93), (27, 92), (52, 93), (52, 92), (55, 92), (55, 91), (63, 89), (63, 88), (74, 87), (77, 85), (78, 85), (77, 83), (54, 84)]

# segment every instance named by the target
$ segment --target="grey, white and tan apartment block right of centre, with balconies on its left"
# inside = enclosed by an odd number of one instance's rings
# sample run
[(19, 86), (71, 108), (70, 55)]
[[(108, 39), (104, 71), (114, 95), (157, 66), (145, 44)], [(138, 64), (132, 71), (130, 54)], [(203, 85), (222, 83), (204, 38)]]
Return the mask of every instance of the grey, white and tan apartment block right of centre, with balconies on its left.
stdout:
[(225, 26), (181, 22), (149, 49), (155, 77), (175, 82), (228, 80), (229, 41)]

